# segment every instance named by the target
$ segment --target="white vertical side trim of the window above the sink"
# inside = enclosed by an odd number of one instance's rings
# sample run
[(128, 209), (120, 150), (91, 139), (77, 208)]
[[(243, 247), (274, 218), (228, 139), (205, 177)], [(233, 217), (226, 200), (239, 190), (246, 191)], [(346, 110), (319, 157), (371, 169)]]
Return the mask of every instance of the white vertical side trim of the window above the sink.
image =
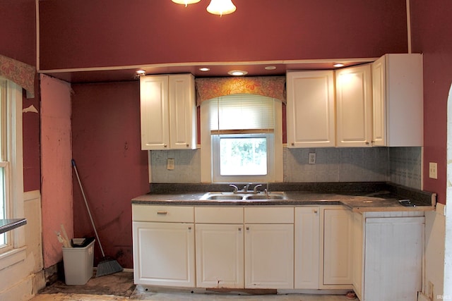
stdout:
[[(274, 169), (272, 182), (283, 182), (283, 104), (275, 101)], [(208, 106), (201, 105), (201, 183), (213, 183), (212, 143)]]

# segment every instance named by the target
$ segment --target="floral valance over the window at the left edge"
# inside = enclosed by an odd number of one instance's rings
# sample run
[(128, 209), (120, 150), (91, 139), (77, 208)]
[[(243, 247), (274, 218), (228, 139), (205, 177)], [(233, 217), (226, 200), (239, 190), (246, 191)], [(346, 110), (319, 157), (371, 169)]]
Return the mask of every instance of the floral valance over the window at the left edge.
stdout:
[(36, 68), (0, 54), (0, 76), (16, 82), (27, 91), (27, 97), (35, 97)]

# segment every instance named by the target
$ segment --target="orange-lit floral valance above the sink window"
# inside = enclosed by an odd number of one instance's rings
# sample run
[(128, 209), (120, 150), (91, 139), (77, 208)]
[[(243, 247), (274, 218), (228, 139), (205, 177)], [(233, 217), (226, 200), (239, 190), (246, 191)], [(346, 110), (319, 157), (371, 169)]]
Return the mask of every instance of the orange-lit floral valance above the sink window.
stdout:
[(229, 94), (258, 94), (285, 100), (285, 76), (256, 76), (241, 78), (196, 78), (196, 103)]

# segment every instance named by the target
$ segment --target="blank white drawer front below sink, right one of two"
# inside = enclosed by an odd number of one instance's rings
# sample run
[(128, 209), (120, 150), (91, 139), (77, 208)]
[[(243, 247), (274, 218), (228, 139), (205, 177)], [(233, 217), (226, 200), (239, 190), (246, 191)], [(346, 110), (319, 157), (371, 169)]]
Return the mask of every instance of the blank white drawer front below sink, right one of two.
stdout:
[(293, 207), (245, 208), (245, 223), (294, 223)]

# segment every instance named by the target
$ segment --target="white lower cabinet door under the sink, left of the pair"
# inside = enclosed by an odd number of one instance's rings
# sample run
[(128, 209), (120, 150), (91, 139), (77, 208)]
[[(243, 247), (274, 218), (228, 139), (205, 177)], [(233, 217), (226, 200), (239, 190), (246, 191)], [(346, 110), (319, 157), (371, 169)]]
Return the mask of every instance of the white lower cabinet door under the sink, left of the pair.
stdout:
[(196, 224), (196, 286), (244, 288), (243, 225)]

